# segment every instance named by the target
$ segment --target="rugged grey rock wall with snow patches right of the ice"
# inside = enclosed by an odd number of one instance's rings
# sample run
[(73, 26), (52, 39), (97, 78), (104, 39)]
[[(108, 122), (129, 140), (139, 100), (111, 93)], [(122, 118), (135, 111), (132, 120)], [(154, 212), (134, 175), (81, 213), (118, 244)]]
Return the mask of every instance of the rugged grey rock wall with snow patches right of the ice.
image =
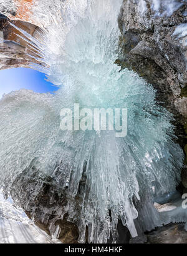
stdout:
[[(158, 100), (187, 118), (186, 1), (123, 0), (118, 17), (122, 36), (117, 63), (132, 68), (158, 90)], [(158, 6), (155, 7), (154, 3)], [(172, 12), (173, 11), (173, 12)], [(170, 15), (171, 14), (171, 15)], [(185, 31), (186, 29), (186, 31)]]

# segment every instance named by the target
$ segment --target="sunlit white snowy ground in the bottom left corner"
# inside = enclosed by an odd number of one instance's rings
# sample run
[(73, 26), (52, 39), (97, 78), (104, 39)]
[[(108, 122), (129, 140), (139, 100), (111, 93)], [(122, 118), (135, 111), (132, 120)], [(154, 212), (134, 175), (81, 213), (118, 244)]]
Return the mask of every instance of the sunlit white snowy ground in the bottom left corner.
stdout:
[(0, 243), (55, 243), (0, 193)]

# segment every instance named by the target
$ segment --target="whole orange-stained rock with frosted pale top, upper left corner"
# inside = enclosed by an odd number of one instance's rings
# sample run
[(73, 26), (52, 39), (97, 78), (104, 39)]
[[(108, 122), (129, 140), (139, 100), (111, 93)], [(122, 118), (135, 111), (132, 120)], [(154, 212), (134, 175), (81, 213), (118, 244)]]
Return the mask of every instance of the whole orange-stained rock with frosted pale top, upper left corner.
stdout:
[(29, 49), (29, 44), (17, 35), (26, 37), (10, 23), (36, 37), (37, 31), (50, 25), (52, 12), (57, 12), (55, 1), (52, 3), (47, 0), (0, 0), (0, 70), (29, 68), (29, 63), (42, 65), (42, 60), (31, 57), (33, 51)]

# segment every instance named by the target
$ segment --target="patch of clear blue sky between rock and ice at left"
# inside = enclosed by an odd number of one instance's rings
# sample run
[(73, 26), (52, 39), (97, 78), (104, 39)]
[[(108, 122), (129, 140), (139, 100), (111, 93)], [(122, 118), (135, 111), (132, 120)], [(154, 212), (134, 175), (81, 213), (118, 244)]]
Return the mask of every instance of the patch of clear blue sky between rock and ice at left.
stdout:
[(37, 93), (53, 92), (58, 90), (45, 80), (46, 76), (39, 71), (29, 68), (12, 68), (0, 71), (0, 98), (4, 93), (19, 89), (28, 89)]

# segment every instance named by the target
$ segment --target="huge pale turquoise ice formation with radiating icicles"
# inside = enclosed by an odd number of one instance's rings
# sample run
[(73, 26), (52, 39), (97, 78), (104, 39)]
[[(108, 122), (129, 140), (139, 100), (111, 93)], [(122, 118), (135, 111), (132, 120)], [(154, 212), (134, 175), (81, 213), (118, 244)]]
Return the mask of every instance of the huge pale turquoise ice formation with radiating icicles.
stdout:
[[(27, 184), (32, 191), (27, 200), (19, 195), (27, 210), (42, 177), (51, 177), (67, 198), (52, 214), (62, 218), (69, 213), (69, 220), (79, 227), (79, 242), (85, 242), (86, 227), (89, 242), (107, 242), (111, 233), (115, 242), (119, 218), (135, 237), (138, 230), (171, 220), (161, 218), (153, 204), (155, 197), (175, 191), (180, 181), (183, 152), (173, 141), (173, 117), (156, 103), (150, 84), (115, 64), (121, 0), (56, 4), (59, 12), (40, 34), (42, 41), (17, 28), (47, 64), (32, 68), (46, 72), (59, 90), (55, 95), (14, 91), (0, 101), (4, 193), (19, 203), (14, 195), (22, 189), (15, 187), (17, 177), (22, 173), (24, 178), (37, 177), (34, 188)], [(90, 109), (127, 108), (128, 135), (60, 130), (60, 110), (73, 109), (74, 103)], [(47, 211), (42, 212), (44, 222)], [(58, 235), (52, 227), (51, 232)]]

